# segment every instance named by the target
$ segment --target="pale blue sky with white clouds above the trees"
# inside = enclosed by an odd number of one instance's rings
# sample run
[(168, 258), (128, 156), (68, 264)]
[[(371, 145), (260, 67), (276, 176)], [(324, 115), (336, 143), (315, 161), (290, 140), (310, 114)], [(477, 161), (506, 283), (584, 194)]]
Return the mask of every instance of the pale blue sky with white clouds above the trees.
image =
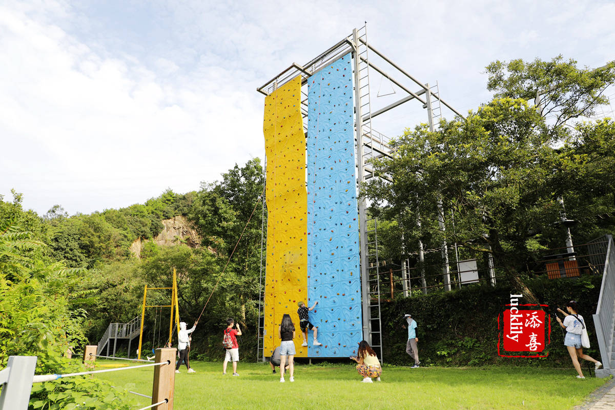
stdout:
[(491, 61), (615, 60), (613, 1), (0, 0), (0, 195), (91, 213), (264, 160), (256, 88), (365, 21), (368, 42), (460, 112), (490, 100)]

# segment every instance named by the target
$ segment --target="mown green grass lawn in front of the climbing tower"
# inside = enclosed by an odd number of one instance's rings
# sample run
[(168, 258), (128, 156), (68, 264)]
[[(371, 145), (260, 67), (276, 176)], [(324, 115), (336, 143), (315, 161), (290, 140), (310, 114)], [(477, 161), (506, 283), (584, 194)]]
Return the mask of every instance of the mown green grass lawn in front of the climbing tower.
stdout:
[[(97, 363), (129, 363), (97, 360)], [(384, 366), (382, 382), (360, 383), (352, 365), (298, 365), (284, 384), (268, 364), (190, 361), (197, 373), (175, 374), (175, 410), (201, 409), (540, 409), (566, 410), (606, 379), (575, 379), (570, 369), (518, 367), (418, 368)], [(135, 365), (132, 362), (130, 365)], [(98, 368), (97, 368), (98, 369)], [(586, 374), (586, 376), (588, 376)], [(133, 392), (151, 395), (152, 368), (98, 374)], [(136, 406), (149, 399), (130, 395)]]

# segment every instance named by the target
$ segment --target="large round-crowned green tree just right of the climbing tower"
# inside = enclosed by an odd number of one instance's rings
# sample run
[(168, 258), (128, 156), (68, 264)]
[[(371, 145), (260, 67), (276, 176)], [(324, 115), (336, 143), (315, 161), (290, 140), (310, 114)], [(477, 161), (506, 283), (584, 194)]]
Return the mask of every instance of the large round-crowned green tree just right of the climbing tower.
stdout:
[(560, 220), (558, 197), (573, 189), (582, 165), (551, 148), (558, 141), (525, 100), (499, 98), (466, 119), (443, 121), (437, 132), (406, 130), (394, 143), (394, 159), (375, 163), (392, 183), (374, 180), (365, 195), (387, 217), (397, 216), (408, 239), (425, 240), (429, 232), (432, 244), (444, 239), (434, 231), (442, 200), (449, 242), (493, 253), (523, 286), (518, 261), (526, 257), (526, 243)]

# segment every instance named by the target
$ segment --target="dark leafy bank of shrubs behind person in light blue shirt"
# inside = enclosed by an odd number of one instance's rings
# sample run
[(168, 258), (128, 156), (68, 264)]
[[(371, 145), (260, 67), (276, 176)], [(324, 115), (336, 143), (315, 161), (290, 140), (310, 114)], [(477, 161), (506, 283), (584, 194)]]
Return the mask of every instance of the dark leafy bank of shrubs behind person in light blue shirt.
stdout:
[[(527, 280), (526, 283), (542, 304), (549, 305), (547, 313), (553, 313), (557, 307), (565, 309), (566, 302), (570, 300), (579, 302), (580, 313), (587, 321), (592, 344), (590, 349), (584, 351), (599, 360), (592, 313), (595, 313), (598, 302), (601, 276), (558, 280), (539, 277)], [(548, 358), (498, 357), (498, 315), (504, 310), (504, 305), (510, 303), (511, 293), (517, 292), (505, 284), (496, 287), (475, 285), (457, 291), (383, 302), (384, 360), (392, 364), (410, 364), (410, 356), (405, 353), (407, 330), (402, 325), (405, 325), (404, 313), (411, 313), (418, 324), (419, 358), (424, 365), (571, 366), (568, 352), (563, 346), (561, 328), (553, 315), (551, 344), (546, 349)]]

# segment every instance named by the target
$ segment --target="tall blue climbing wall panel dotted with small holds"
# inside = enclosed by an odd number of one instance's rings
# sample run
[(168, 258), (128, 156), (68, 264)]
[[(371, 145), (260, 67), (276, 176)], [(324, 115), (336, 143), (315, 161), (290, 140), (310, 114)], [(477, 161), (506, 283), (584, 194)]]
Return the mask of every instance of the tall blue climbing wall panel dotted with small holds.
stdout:
[(308, 306), (322, 347), (308, 357), (348, 357), (362, 337), (351, 55), (308, 80)]

